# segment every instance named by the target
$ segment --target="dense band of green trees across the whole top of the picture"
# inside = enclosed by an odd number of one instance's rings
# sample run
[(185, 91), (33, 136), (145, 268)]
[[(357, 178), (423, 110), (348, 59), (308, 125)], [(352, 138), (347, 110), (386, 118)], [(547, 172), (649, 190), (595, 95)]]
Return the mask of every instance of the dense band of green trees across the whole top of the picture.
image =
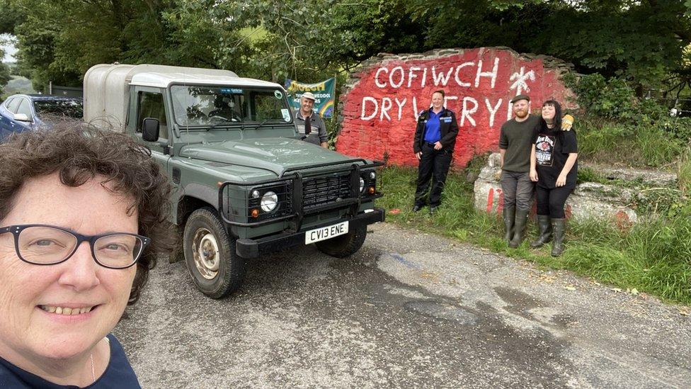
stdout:
[[(691, 0), (0, 0), (36, 86), (99, 62), (233, 69), (280, 81), (378, 52), (508, 46), (644, 86), (688, 65)], [(15, 15), (21, 15), (17, 17)]]

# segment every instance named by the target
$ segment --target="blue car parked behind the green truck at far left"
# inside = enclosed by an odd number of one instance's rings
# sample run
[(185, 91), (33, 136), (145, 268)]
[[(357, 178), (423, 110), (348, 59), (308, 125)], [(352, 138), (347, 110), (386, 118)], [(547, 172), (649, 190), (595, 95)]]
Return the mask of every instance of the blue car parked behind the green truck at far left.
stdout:
[(15, 94), (0, 104), (0, 140), (11, 133), (51, 128), (55, 120), (84, 116), (81, 97)]

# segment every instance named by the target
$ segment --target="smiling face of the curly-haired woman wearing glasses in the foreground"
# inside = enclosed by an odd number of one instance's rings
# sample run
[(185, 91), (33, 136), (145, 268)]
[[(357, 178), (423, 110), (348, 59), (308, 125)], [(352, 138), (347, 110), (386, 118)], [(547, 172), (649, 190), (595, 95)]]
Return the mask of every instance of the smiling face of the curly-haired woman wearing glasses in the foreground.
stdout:
[[(84, 235), (137, 233), (137, 213), (127, 215), (130, 201), (100, 181), (72, 188), (57, 174), (29, 179), (0, 227), (47, 224)], [(0, 356), (21, 367), (88, 355), (120, 320), (135, 269), (96, 264), (88, 242), (61, 264), (28, 264), (18, 258), (13, 235), (0, 235)]]

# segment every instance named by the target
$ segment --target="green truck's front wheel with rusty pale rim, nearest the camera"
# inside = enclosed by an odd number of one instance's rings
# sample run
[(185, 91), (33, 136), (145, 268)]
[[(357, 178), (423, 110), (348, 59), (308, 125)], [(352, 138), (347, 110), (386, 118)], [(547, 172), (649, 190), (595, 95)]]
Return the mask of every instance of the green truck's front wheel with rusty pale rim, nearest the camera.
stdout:
[(183, 251), (190, 276), (205, 295), (223, 298), (240, 287), (246, 259), (235, 252), (235, 238), (228, 236), (213, 208), (200, 208), (190, 215), (185, 223)]

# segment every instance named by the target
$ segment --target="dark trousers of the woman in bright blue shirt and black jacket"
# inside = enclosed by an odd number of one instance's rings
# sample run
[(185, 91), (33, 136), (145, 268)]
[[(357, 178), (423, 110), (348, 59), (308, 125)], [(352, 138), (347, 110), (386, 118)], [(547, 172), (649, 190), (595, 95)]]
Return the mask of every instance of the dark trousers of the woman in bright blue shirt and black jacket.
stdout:
[(452, 150), (434, 150), (434, 145), (425, 142), (422, 147), (422, 156), (418, 164), (418, 188), (415, 191), (415, 204), (423, 206), (426, 203), (427, 189), (432, 181), (430, 190), (430, 206), (436, 207), (442, 201), (442, 191), (449, 173)]

